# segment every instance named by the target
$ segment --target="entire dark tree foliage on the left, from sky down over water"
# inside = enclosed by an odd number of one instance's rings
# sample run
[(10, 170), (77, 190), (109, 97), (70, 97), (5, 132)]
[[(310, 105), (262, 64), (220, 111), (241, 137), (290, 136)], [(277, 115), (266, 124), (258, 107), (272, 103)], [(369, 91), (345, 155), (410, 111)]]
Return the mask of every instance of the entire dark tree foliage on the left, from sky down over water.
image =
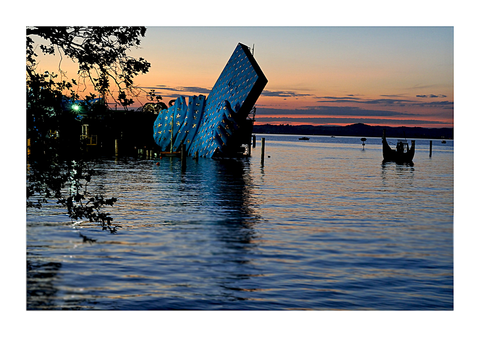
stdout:
[[(73, 89), (77, 82), (67, 81), (59, 66), (59, 74), (37, 73), (38, 56), (31, 36), (48, 41), (40, 45), (44, 54), (60, 52), (79, 64), (78, 74), (90, 81), (100, 97), (111, 96), (126, 109), (138, 96), (133, 77), (146, 73), (150, 63), (136, 60), (126, 54), (131, 47), (138, 47), (139, 37), (144, 37), (144, 27), (32, 27), (26, 37), (26, 101), (27, 138), (30, 140), (27, 154), (27, 207), (41, 208), (51, 199), (67, 209), (73, 220), (88, 219), (98, 222), (104, 230), (116, 232), (110, 213), (117, 198), (105, 199), (102, 195), (90, 195), (87, 185), (96, 174), (84, 162), (80, 150), (81, 123), (72, 102), (80, 97)], [(59, 79), (60, 75), (60, 79)], [(112, 96), (112, 82), (118, 89)], [(85, 96), (84, 104), (96, 94)], [(161, 99), (161, 98), (160, 98)], [(36, 199), (36, 201), (34, 200)]]

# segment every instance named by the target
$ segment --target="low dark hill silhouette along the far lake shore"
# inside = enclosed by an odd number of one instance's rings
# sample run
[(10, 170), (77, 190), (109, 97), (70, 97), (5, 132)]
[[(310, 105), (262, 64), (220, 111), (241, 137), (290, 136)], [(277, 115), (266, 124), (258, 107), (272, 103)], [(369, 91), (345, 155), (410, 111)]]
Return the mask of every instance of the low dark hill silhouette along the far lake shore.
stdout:
[(317, 136), (351, 136), (351, 137), (382, 137), (383, 129), (391, 138), (431, 138), (453, 139), (453, 128), (426, 128), (408, 126), (381, 126), (357, 123), (346, 126), (314, 126), (314, 125), (253, 125), (252, 133), (286, 134), (286, 135), (317, 135)]

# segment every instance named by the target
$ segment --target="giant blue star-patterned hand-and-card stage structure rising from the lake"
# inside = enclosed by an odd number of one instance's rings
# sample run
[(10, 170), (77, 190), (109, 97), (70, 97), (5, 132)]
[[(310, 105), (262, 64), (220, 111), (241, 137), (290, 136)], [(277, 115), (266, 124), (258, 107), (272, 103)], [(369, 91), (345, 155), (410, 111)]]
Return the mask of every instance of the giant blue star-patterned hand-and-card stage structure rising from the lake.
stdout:
[(177, 152), (186, 145), (188, 155), (238, 157), (250, 154), (254, 104), (267, 79), (249, 48), (238, 44), (208, 98), (180, 96), (161, 110), (154, 123), (160, 151)]

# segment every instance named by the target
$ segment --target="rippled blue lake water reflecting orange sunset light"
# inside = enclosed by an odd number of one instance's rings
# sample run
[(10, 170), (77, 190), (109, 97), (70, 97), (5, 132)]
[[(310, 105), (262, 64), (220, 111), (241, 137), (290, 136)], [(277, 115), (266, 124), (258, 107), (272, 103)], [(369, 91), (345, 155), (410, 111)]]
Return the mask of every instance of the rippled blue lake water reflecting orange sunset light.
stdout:
[(28, 209), (27, 309), (453, 310), (453, 140), (401, 165), (381, 138), (299, 137), (185, 173), (95, 162), (121, 227)]

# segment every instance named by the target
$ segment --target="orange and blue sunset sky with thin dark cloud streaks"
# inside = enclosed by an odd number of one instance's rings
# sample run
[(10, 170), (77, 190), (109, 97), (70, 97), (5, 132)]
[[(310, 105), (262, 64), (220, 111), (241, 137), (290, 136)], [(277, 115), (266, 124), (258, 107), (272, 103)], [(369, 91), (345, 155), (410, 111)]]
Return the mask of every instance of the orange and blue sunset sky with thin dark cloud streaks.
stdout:
[[(141, 49), (130, 54), (152, 65), (135, 83), (155, 88), (168, 103), (208, 95), (237, 44), (255, 44), (268, 79), (256, 124), (453, 127), (453, 33), (453, 27), (147, 27)], [(38, 70), (58, 69), (58, 55), (37, 51)], [(78, 67), (63, 59), (62, 70), (76, 78)], [(145, 102), (144, 96), (134, 108)]]

